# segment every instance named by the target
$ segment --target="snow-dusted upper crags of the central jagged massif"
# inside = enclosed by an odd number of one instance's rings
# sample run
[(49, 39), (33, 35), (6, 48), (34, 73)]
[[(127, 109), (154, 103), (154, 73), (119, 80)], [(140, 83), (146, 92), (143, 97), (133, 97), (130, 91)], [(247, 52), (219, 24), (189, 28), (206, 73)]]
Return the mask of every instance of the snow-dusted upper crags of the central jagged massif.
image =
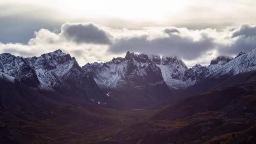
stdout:
[[(163, 56), (157, 54), (136, 54), (128, 51), (125, 58), (114, 58), (104, 64), (86, 64), (83, 69), (93, 75), (101, 88), (116, 88), (118, 81), (123, 80), (123, 74), (145, 77), (148, 70), (154, 72), (156, 77), (163, 77), (171, 89), (187, 87), (182, 81), (184, 72), (188, 69), (186, 64), (177, 56)], [(111, 78), (112, 77), (112, 78)], [(116, 82), (114, 82), (116, 81)], [(158, 81), (161, 81), (160, 79)], [(127, 83), (125, 80), (122, 83)]]

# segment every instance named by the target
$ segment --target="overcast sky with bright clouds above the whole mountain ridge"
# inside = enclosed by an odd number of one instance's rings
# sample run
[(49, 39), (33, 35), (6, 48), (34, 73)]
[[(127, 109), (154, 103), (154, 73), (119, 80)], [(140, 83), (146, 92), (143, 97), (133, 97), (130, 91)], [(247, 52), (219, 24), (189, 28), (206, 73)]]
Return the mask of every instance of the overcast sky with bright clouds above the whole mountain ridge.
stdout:
[(136, 53), (188, 67), (256, 48), (255, 0), (1, 0), (0, 53), (61, 49), (80, 66)]

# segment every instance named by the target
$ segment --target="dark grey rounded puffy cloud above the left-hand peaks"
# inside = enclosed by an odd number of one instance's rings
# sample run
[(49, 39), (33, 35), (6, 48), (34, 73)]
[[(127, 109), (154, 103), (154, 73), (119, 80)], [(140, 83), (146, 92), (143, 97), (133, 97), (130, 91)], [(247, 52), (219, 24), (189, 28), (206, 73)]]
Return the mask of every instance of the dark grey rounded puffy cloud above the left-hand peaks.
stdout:
[(65, 23), (61, 26), (61, 36), (75, 43), (110, 44), (107, 32), (93, 23)]

